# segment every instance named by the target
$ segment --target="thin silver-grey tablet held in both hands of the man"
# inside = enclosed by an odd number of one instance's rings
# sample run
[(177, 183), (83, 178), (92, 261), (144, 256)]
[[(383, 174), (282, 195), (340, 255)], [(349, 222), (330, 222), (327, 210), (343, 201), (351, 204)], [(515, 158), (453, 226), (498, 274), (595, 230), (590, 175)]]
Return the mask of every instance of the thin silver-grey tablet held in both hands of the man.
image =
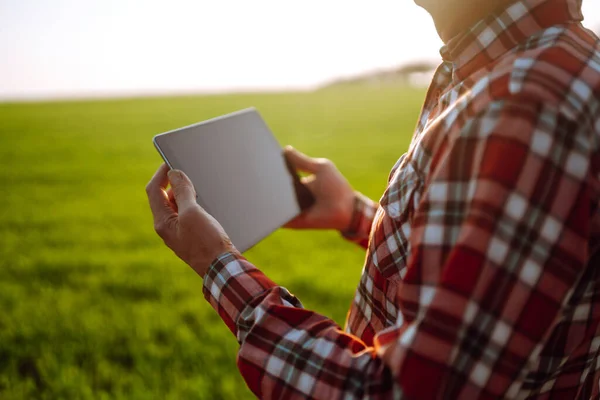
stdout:
[(190, 178), (198, 204), (240, 252), (314, 201), (254, 108), (162, 133), (153, 141), (167, 165)]

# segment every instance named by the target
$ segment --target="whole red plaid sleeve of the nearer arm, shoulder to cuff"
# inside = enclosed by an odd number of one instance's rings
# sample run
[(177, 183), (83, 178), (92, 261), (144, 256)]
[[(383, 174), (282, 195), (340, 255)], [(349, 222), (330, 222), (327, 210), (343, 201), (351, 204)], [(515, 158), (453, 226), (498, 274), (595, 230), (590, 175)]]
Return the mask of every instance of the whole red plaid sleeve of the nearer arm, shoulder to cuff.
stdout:
[(302, 309), (244, 258), (221, 256), (204, 293), (240, 342), (250, 389), (286, 399), (519, 394), (585, 269), (585, 140), (577, 123), (530, 100), (499, 100), (467, 121), (430, 172), (401, 313), (373, 347)]

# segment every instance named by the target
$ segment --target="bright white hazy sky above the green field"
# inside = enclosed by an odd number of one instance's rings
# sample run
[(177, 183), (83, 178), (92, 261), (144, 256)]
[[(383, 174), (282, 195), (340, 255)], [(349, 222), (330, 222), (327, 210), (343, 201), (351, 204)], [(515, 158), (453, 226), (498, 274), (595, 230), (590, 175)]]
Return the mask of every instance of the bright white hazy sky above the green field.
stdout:
[(412, 0), (0, 0), (0, 100), (308, 89), (441, 45)]

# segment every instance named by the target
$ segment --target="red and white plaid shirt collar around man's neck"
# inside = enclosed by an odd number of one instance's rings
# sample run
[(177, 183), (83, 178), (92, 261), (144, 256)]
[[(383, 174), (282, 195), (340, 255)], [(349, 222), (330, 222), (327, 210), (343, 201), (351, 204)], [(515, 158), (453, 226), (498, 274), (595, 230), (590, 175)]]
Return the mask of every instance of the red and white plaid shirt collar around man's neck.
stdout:
[(583, 20), (581, 1), (516, 1), (455, 36), (440, 54), (462, 80), (544, 28)]

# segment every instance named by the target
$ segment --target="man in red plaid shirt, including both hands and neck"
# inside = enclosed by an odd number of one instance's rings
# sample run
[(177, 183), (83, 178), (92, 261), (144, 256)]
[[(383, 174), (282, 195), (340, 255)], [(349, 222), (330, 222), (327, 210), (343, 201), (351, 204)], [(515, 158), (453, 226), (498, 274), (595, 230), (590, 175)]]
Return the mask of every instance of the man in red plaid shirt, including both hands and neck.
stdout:
[(155, 227), (204, 278), (259, 397), (598, 398), (600, 44), (581, 0), (417, 3), (444, 62), (380, 204), (286, 151), (317, 198), (290, 225), (367, 248), (345, 332), (242, 258), (164, 166)]

